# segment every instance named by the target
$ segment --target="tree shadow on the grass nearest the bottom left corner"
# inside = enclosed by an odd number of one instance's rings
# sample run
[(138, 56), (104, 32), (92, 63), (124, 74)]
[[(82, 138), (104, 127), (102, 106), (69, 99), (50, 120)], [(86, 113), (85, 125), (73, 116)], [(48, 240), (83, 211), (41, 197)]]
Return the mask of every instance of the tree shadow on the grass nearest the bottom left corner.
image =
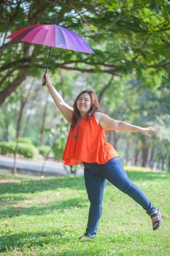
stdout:
[(0, 252), (10, 252), (14, 249), (29, 249), (43, 247), (47, 244), (60, 244), (67, 243), (70, 238), (66, 236), (66, 230), (58, 229), (51, 232), (28, 232), (28, 233), (16, 233), (7, 234), (1, 236)]

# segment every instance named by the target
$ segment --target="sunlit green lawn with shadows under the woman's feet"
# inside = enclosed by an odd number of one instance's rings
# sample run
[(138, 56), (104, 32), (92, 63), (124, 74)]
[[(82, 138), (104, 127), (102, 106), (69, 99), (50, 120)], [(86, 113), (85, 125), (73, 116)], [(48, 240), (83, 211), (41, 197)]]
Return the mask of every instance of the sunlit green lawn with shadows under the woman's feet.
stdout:
[(163, 213), (152, 231), (141, 206), (107, 183), (98, 236), (79, 241), (88, 218), (82, 176), (0, 175), (1, 255), (170, 255), (170, 175), (128, 171)]

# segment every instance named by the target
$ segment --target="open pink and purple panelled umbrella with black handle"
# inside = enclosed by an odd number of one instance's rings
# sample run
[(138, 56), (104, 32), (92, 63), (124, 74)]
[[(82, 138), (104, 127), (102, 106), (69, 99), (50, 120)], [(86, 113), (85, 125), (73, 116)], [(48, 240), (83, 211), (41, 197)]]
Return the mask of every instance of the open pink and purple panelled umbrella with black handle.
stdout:
[[(50, 46), (45, 74), (49, 66), (52, 47), (75, 50), (82, 53), (93, 53), (88, 43), (80, 35), (56, 24), (26, 26), (10, 34), (7, 38), (10, 41)], [(45, 82), (42, 85), (45, 86)]]

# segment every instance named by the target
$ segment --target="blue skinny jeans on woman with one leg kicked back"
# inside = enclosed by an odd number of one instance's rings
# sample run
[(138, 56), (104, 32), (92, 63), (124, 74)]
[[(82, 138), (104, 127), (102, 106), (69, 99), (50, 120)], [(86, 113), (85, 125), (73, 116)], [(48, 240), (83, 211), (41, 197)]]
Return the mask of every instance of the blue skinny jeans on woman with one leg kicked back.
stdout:
[(83, 165), (85, 167), (85, 187), (88, 192), (88, 199), (90, 200), (86, 236), (96, 236), (98, 222), (102, 214), (102, 199), (107, 180), (117, 187), (117, 189), (129, 195), (136, 203), (139, 203), (148, 215), (156, 211), (156, 208), (144, 192), (142, 192), (142, 189), (139, 189), (139, 187), (129, 180), (119, 157), (110, 159), (104, 165), (99, 165), (96, 162), (83, 162)]

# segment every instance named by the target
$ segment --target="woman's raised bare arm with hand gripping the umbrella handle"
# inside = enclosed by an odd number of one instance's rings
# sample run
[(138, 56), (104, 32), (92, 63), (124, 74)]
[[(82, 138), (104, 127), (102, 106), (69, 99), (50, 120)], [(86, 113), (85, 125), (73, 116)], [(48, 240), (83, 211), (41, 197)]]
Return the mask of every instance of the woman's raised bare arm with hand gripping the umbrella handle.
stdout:
[(51, 83), (49, 75), (46, 74), (45, 78), (42, 78), (42, 82), (44, 81), (46, 81), (47, 89), (50, 92), (51, 97), (55, 102), (55, 105), (58, 106), (58, 109), (61, 111), (66, 120), (69, 121), (69, 123), (72, 123), (73, 108), (66, 104), (66, 102), (64, 102), (63, 100), (63, 97), (61, 97), (61, 95), (58, 94), (58, 91), (55, 90), (53, 84)]

